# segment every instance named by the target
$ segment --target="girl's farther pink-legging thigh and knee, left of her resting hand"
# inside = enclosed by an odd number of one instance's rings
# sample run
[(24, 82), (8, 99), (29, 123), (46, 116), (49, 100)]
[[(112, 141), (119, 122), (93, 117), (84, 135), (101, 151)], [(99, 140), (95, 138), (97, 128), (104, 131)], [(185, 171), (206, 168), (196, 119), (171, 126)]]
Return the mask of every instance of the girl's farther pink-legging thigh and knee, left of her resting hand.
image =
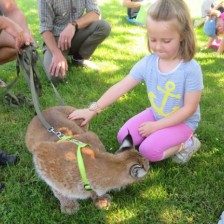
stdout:
[(121, 144), (125, 137), (130, 134), (133, 140), (134, 145), (139, 145), (145, 139), (142, 137), (139, 132), (138, 128), (143, 122), (147, 121), (155, 121), (153, 113), (150, 108), (142, 111), (141, 113), (135, 115), (134, 117), (130, 118), (119, 130), (117, 138), (118, 142)]

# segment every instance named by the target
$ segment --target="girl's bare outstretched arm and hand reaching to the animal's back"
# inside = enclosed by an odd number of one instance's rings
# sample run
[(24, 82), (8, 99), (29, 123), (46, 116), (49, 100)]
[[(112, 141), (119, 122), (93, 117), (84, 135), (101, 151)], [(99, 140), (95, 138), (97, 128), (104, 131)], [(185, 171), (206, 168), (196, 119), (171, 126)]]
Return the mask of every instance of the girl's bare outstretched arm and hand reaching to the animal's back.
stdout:
[(110, 87), (96, 102), (96, 109), (79, 109), (74, 110), (69, 116), (69, 120), (84, 119), (81, 126), (88, 123), (96, 114), (107, 106), (115, 102), (118, 98), (123, 96), (129, 90), (134, 88), (139, 81), (134, 80), (130, 75), (127, 75), (124, 79)]

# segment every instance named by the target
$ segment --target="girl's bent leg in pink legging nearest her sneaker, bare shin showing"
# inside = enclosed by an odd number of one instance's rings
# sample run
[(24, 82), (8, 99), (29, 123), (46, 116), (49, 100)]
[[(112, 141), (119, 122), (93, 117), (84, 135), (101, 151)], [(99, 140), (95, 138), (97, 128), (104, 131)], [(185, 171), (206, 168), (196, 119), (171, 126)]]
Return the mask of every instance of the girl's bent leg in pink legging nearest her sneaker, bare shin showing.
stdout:
[(176, 154), (192, 135), (193, 130), (184, 123), (164, 128), (148, 136), (139, 152), (151, 162), (160, 161)]

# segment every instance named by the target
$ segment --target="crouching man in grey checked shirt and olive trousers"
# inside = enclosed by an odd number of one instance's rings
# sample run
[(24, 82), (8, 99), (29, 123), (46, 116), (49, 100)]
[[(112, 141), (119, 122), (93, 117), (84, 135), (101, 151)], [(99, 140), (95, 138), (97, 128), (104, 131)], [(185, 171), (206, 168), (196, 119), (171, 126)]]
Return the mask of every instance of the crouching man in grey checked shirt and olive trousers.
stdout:
[(75, 66), (97, 69), (89, 61), (111, 27), (101, 20), (96, 0), (38, 0), (40, 33), (43, 37), (44, 67), (52, 81), (63, 81), (68, 70), (67, 56)]

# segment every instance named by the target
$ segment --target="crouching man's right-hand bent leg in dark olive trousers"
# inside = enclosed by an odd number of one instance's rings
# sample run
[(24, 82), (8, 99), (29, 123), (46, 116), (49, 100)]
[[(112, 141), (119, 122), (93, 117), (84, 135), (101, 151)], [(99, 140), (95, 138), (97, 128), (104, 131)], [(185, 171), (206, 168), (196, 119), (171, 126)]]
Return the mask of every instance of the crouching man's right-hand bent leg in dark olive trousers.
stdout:
[(73, 55), (75, 59), (89, 59), (97, 46), (110, 34), (110, 31), (110, 24), (104, 20), (98, 20), (88, 27), (78, 30), (72, 39), (69, 55)]

